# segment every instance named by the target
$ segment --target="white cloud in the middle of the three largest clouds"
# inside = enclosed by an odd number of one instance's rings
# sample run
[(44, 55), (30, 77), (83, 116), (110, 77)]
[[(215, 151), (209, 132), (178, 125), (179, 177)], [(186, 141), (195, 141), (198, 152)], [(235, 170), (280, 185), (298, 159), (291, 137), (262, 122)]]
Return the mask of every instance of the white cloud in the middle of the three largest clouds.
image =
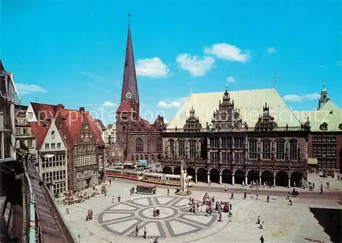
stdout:
[(204, 57), (200, 59), (198, 56), (191, 56), (189, 54), (179, 54), (176, 57), (176, 62), (179, 68), (187, 70), (192, 76), (205, 76), (205, 74), (213, 68), (213, 57)]

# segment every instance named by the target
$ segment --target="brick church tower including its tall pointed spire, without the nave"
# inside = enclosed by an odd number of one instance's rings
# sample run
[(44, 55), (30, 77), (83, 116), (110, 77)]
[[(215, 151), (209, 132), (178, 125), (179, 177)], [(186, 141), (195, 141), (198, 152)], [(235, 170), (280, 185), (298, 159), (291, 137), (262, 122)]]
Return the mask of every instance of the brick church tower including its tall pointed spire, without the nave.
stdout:
[(129, 20), (121, 100), (116, 110), (116, 139), (118, 139), (124, 148), (125, 159), (127, 159), (127, 146), (129, 146), (127, 143), (129, 128), (140, 119), (139, 108), (139, 92), (137, 91), (137, 75), (135, 73), (131, 25)]

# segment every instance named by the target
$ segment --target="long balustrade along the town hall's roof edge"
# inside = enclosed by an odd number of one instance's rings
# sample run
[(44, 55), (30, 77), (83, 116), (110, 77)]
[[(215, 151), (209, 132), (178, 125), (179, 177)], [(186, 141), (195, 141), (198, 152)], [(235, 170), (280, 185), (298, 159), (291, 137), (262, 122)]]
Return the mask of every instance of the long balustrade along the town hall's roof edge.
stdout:
[(215, 129), (215, 128), (202, 128), (202, 129), (183, 129), (183, 128), (166, 128), (162, 132), (298, 132), (309, 131), (310, 127), (306, 126), (278, 126), (276, 128), (229, 128), (229, 129)]

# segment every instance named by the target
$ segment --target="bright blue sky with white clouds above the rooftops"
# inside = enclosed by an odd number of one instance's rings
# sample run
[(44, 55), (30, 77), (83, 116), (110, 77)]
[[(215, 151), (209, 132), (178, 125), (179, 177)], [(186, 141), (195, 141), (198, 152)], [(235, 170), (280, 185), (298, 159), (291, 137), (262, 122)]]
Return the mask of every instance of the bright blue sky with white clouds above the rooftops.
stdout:
[[(127, 14), (144, 117), (170, 121), (186, 96), (274, 87), (312, 110), (323, 79), (342, 107), (341, 1), (2, 0), (1, 53), (23, 104), (86, 106), (113, 122)], [(103, 111), (101, 113), (101, 111)]]

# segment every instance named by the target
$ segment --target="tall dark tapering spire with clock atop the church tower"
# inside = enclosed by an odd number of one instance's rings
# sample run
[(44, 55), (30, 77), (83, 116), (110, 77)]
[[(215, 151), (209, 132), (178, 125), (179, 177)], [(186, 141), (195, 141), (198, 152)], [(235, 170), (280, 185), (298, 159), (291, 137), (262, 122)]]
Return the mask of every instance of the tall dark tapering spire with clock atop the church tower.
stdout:
[(137, 75), (135, 74), (135, 64), (133, 55), (133, 45), (131, 37), (131, 14), (129, 14), (129, 28), (126, 45), (126, 58), (124, 59), (124, 78), (121, 90), (121, 102), (128, 100), (139, 104), (139, 93), (137, 91)]

